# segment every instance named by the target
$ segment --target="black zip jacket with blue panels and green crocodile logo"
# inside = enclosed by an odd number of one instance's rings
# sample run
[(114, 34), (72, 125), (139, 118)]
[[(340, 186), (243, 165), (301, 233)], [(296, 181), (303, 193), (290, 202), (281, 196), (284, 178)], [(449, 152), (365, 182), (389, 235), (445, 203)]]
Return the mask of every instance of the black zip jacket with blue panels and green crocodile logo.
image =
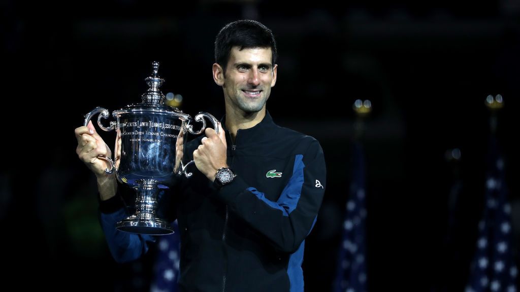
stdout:
[[(187, 143), (185, 155), (201, 138)], [(239, 130), (234, 144), (226, 130), (226, 140), (235, 180), (217, 190), (192, 167), (192, 177), (161, 197), (158, 214), (178, 220), (180, 289), (303, 291), (305, 237), (326, 183), (320, 144), (277, 126), (268, 112), (261, 123)], [(154, 238), (114, 228), (127, 216), (121, 202), (118, 196), (101, 202), (100, 221), (112, 256), (124, 262), (146, 253)]]

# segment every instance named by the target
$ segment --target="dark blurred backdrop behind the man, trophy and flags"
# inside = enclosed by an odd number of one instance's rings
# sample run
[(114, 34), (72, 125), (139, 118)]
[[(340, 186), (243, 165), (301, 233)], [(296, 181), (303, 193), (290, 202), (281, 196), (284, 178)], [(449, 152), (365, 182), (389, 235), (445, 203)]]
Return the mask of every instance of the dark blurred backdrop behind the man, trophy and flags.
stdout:
[[(96, 182), (75, 154), (73, 130), (94, 107), (139, 102), (154, 60), (166, 79), (162, 91), (183, 95), (185, 113), (222, 116), (222, 89), (211, 76), (214, 37), (230, 21), (256, 19), (278, 41), (269, 112), (317, 138), (327, 160), (326, 196), (306, 241), (306, 290), (331, 289), (352, 104), (370, 99), (362, 138), (369, 289), (462, 291), (484, 206), (490, 94), (505, 100), (497, 137), (516, 242), (520, 234), (519, 16), (518, 0), (2, 2), (8, 275), (44, 276), (43, 285), (58, 288), (147, 285), (150, 258), (121, 265), (108, 253)], [(113, 133), (101, 135), (112, 147)], [(446, 161), (451, 148), (462, 152), (457, 166)], [(450, 208), (454, 167), (463, 189)]]

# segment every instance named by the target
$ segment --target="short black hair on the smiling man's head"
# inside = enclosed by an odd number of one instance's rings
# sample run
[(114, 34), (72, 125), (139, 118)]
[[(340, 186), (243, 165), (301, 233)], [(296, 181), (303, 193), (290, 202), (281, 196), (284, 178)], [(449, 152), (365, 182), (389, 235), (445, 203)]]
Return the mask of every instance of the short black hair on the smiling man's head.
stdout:
[(275, 36), (264, 24), (255, 20), (237, 20), (228, 23), (215, 38), (215, 62), (226, 70), (232, 47), (271, 48), (272, 65), (276, 64), (277, 50)]

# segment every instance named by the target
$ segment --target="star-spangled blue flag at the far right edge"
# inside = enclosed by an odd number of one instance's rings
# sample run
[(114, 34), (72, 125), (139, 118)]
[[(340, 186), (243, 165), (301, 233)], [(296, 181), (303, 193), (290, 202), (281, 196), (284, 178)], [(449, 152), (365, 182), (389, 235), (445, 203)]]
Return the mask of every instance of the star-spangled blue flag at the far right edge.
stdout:
[(516, 292), (518, 269), (513, 257), (511, 205), (504, 180), (504, 161), (495, 137), (489, 143), (486, 197), (466, 292)]

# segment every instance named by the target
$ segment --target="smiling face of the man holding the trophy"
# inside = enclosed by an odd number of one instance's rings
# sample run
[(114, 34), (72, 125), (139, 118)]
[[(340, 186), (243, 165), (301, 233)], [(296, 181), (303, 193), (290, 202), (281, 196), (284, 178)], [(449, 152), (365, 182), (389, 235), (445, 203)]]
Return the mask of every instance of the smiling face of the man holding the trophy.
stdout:
[(231, 49), (224, 78), (226, 104), (244, 114), (259, 112), (276, 83), (270, 48)]

